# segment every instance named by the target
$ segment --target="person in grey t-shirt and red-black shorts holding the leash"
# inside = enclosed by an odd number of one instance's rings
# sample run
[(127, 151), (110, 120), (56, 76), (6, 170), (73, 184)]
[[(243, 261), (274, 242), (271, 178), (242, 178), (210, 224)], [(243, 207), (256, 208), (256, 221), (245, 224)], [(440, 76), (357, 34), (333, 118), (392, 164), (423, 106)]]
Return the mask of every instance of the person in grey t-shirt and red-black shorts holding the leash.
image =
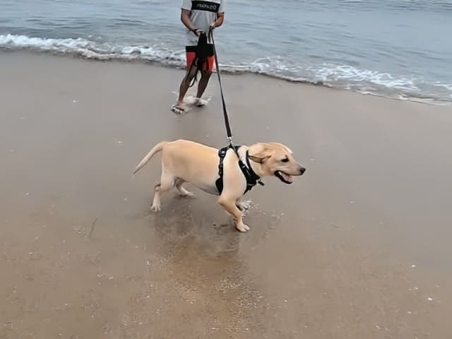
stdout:
[[(177, 103), (172, 106), (172, 111), (175, 113), (186, 112), (184, 97), (198, 70), (201, 71), (201, 79), (198, 82), (195, 105), (198, 107), (206, 105), (206, 101), (202, 99), (202, 96), (207, 88), (212, 75), (213, 65), (215, 64), (213, 46), (208, 32), (222, 25), (225, 18), (223, 3), (224, 0), (182, 0), (181, 20), (187, 28), (185, 47), (187, 71), (179, 87)], [(207, 35), (207, 58), (205, 61), (203, 60), (203, 65), (198, 65), (199, 60), (196, 58), (198, 41), (200, 41), (200, 37), (203, 34)]]

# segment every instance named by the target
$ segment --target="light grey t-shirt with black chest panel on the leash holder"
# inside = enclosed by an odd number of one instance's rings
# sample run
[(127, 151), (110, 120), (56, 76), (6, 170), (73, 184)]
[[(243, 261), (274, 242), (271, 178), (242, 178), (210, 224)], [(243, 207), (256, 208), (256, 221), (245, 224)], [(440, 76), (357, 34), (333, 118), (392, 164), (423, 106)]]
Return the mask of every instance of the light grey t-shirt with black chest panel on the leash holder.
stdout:
[[(190, 19), (193, 25), (207, 33), (210, 24), (217, 20), (218, 13), (225, 11), (223, 9), (224, 2), (224, 0), (182, 0), (182, 8), (190, 11)], [(189, 46), (198, 44), (198, 37), (191, 30), (187, 30), (186, 37)]]

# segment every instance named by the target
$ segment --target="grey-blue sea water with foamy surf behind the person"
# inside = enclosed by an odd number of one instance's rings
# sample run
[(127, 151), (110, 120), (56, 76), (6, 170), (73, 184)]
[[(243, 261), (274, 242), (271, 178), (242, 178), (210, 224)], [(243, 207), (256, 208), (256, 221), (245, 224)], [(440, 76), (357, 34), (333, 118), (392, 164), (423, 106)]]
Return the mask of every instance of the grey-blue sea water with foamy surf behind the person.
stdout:
[[(452, 0), (226, 1), (215, 30), (224, 71), (452, 102)], [(182, 67), (180, 4), (0, 0), (0, 49)]]

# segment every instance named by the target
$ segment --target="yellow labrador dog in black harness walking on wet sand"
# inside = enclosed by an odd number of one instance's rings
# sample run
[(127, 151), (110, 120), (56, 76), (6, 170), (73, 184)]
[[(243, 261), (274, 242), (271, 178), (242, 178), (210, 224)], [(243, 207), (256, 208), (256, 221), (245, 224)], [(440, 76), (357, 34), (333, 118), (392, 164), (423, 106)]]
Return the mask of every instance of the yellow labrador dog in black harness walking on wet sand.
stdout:
[[(219, 196), (218, 203), (235, 221), (237, 230), (246, 232), (249, 227), (242, 220), (242, 196), (261, 177), (275, 176), (285, 184), (292, 184), (292, 176), (306, 170), (294, 160), (292, 151), (280, 143), (255, 143), (250, 146), (218, 150), (187, 140), (162, 141), (137, 165), (133, 174), (144, 167), (151, 157), (162, 152), (162, 175), (155, 185), (151, 208), (160, 210), (160, 195), (176, 187), (182, 196), (193, 196), (184, 187), (189, 182), (209, 194)], [(239, 160), (237, 159), (239, 156)]]

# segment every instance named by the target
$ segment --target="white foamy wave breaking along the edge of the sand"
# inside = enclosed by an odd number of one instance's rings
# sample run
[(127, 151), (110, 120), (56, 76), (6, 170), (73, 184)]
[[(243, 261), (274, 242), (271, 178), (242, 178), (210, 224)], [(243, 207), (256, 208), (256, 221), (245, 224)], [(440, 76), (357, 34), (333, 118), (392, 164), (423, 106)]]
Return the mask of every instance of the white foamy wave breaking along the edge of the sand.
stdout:
[[(185, 65), (184, 50), (174, 51), (161, 45), (110, 44), (83, 38), (44, 39), (26, 35), (0, 35), (0, 49), (32, 49), (96, 60), (148, 61), (177, 68)], [(229, 73), (263, 74), (287, 81), (355, 90), (364, 94), (437, 105), (448, 105), (452, 102), (452, 83), (428, 83), (421, 78), (393, 76), (348, 65), (297, 65), (282, 57), (266, 57), (249, 63), (230, 62), (220, 66)]]

